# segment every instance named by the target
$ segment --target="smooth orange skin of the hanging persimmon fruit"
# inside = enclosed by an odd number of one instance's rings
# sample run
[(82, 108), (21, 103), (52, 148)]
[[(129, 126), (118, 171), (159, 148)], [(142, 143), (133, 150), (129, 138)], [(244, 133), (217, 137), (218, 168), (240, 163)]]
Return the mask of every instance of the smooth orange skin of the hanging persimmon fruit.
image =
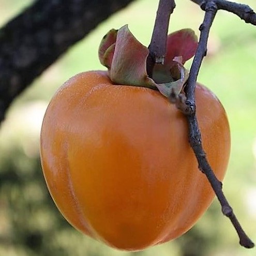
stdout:
[[(222, 180), (230, 155), (225, 111), (197, 85), (197, 117), (210, 165)], [(64, 217), (123, 250), (142, 250), (187, 230), (214, 198), (188, 143), (186, 118), (158, 91), (80, 73), (43, 119), (41, 164)]]

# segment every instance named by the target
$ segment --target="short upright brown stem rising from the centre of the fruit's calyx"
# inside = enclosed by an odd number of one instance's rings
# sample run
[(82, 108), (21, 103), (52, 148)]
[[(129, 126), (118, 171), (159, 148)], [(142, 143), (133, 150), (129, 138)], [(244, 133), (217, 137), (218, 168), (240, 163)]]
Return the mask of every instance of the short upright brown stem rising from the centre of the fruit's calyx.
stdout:
[(147, 75), (150, 78), (155, 64), (164, 63), (169, 21), (175, 6), (174, 0), (159, 0), (153, 34), (148, 46)]

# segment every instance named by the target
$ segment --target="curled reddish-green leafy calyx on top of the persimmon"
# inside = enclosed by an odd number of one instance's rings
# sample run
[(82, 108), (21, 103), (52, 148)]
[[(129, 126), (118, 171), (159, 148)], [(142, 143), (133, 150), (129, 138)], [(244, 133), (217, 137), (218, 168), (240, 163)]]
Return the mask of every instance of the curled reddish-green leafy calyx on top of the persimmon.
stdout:
[(158, 89), (165, 97), (172, 98), (182, 92), (189, 74), (184, 64), (194, 56), (197, 47), (198, 38), (190, 28), (168, 35), (164, 63), (156, 64), (149, 78), (146, 71), (149, 50), (125, 25), (118, 30), (111, 29), (103, 37), (98, 55), (114, 84)]

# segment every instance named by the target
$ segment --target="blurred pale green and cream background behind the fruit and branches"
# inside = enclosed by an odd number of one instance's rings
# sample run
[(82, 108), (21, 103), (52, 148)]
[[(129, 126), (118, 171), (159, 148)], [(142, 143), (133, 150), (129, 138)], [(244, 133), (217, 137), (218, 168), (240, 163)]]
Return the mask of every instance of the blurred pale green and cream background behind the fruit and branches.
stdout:
[[(32, 0), (0, 0), (0, 26)], [(243, 0), (256, 10), (255, 0)], [(203, 11), (188, 0), (176, 1), (170, 32), (198, 27)], [(74, 74), (101, 69), (97, 47), (111, 28), (129, 24), (146, 46), (152, 34), (157, 0), (138, 0), (100, 24), (54, 63), (9, 108), (0, 128), (0, 255), (72, 256), (247, 256), (215, 200), (182, 237), (142, 252), (111, 249), (74, 230), (59, 214), (44, 184), (39, 160), (39, 132), (44, 111), (56, 89)], [(189, 67), (191, 62), (187, 63)], [(256, 27), (219, 11), (199, 81), (225, 107), (232, 150), (224, 192), (238, 219), (256, 242)]]

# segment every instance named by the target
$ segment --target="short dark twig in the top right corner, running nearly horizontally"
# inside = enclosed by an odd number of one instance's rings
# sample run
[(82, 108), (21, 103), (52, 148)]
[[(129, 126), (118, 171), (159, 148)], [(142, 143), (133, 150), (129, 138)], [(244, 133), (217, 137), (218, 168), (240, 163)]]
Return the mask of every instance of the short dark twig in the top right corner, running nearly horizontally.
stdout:
[[(204, 10), (207, 0), (191, 0), (195, 4), (201, 6)], [(236, 14), (240, 19), (244, 20), (246, 23), (251, 23), (256, 25), (256, 13), (252, 10), (251, 7), (244, 4), (233, 3), (225, 0), (216, 0), (214, 1), (218, 7), (218, 10), (225, 10)]]

